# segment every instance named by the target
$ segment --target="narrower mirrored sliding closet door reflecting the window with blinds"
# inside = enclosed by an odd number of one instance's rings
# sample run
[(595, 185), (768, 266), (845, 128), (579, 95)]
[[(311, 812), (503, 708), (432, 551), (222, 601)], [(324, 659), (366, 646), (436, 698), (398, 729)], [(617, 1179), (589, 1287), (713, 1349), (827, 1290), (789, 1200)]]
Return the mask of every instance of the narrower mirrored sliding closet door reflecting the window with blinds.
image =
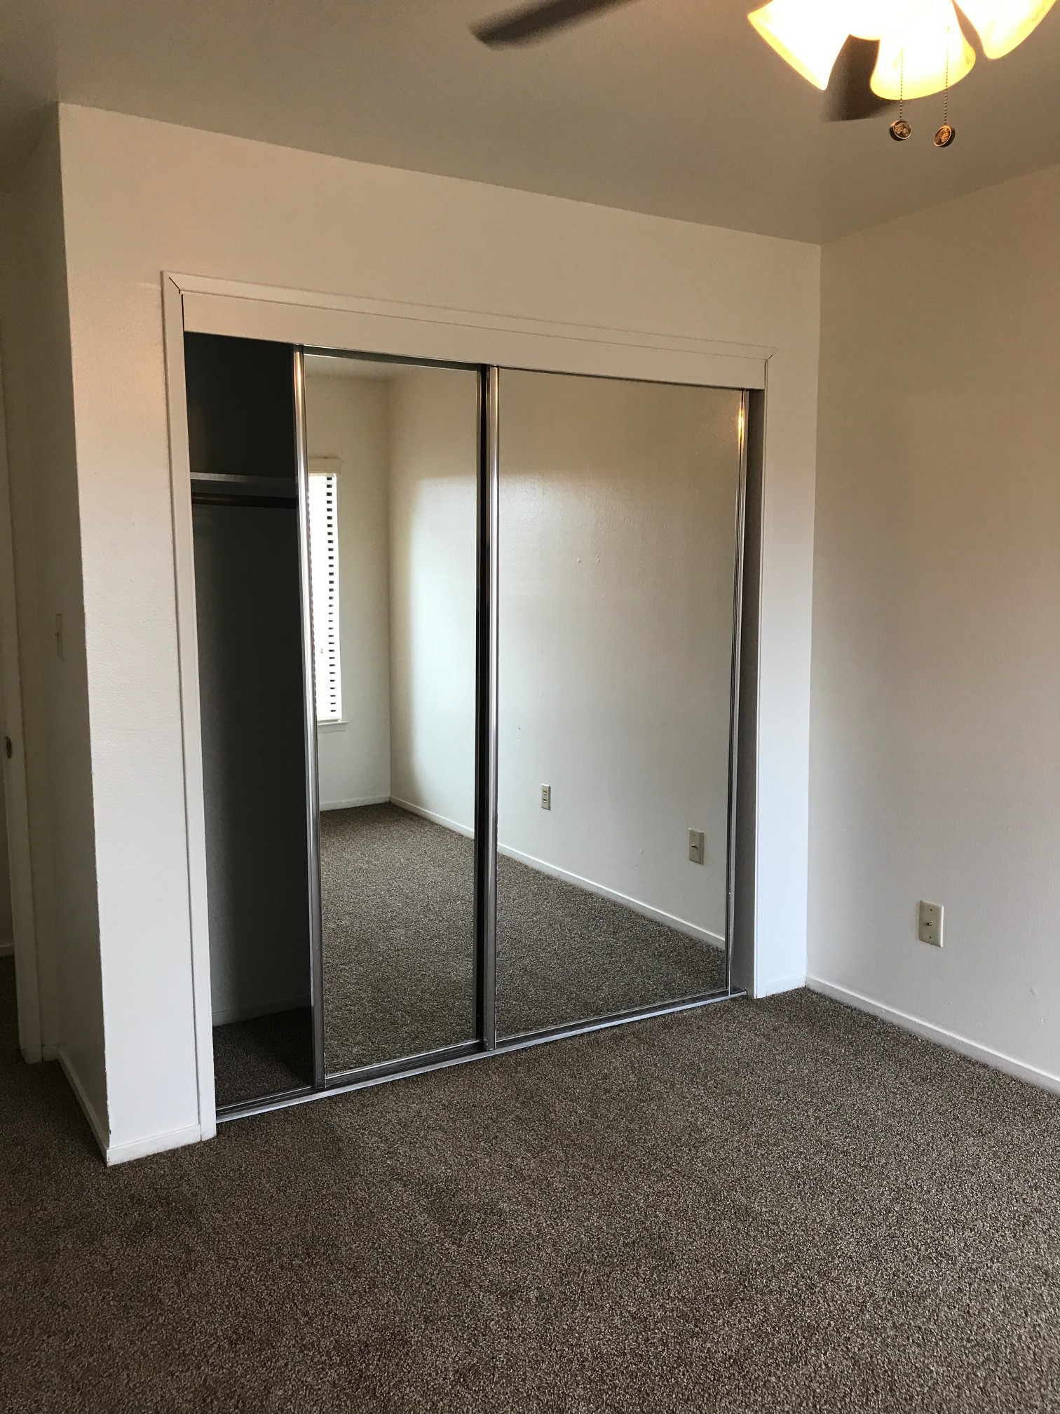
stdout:
[(305, 354), (329, 1080), (471, 1046), (478, 373)]

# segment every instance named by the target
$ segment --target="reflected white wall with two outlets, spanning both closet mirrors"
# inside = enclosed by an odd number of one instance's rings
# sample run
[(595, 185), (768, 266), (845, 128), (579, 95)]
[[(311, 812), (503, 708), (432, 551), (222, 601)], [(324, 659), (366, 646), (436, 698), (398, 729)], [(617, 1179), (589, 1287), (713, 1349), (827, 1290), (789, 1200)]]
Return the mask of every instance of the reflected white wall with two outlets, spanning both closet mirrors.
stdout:
[[(404, 375), (391, 407), (394, 795), (469, 829), (473, 379)], [(500, 375), (500, 847), (718, 943), (738, 414), (734, 392)]]

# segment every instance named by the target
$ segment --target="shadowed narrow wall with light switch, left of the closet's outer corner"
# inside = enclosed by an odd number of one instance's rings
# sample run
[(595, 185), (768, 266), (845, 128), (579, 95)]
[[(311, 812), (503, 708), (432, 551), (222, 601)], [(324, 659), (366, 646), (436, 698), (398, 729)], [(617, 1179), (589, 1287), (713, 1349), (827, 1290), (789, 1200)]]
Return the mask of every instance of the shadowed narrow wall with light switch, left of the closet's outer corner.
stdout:
[[(89, 689), (55, 117), (4, 215), (3, 376), (41, 1032), (106, 1144)], [(62, 615), (62, 655), (55, 619)], [(134, 769), (130, 762), (119, 776)], [(120, 788), (120, 781), (116, 782)], [(141, 822), (150, 831), (150, 822)], [(141, 930), (143, 947), (148, 930)]]

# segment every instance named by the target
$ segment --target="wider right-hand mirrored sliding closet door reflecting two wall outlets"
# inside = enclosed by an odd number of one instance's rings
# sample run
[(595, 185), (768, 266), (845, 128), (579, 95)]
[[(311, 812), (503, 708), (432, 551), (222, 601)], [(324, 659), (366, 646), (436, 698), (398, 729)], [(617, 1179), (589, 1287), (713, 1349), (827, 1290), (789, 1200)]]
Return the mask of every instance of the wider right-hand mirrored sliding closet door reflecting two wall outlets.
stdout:
[(502, 1038), (728, 987), (741, 406), (500, 372)]

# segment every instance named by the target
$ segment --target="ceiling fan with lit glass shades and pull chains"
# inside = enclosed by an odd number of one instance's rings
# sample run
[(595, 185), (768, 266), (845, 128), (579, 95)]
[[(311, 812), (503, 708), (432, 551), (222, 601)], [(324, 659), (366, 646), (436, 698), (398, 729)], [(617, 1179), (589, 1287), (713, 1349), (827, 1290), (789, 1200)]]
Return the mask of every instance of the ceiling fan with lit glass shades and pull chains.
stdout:
[[(489, 48), (533, 44), (632, 0), (533, 0), (472, 27)], [(1001, 58), (1054, 0), (958, 0), (982, 52)], [(827, 93), (830, 122), (871, 117), (903, 99), (948, 90), (975, 64), (953, 0), (770, 0), (748, 18), (803, 78)], [(899, 132), (896, 132), (899, 129)], [(892, 136), (909, 136), (903, 120)], [(948, 133), (946, 143), (938, 136)], [(937, 146), (953, 141), (946, 122)]]

